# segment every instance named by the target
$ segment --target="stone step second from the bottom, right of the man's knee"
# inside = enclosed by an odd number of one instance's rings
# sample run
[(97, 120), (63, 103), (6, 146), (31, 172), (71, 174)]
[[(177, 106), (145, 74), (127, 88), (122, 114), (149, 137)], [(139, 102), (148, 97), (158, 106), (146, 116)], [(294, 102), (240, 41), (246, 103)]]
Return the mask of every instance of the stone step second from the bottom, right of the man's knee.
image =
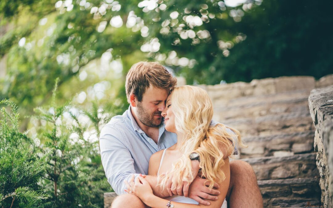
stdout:
[(258, 180), (285, 178), (312, 178), (319, 175), (316, 153), (285, 157), (256, 157), (241, 159), (248, 162)]

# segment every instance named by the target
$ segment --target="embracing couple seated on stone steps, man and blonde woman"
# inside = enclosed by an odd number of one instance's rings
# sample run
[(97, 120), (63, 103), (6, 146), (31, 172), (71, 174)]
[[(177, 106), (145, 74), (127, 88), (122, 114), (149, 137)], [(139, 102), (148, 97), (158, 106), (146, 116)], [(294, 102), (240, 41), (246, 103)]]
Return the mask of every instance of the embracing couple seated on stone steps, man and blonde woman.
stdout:
[(229, 162), (239, 132), (212, 120), (204, 90), (175, 86), (157, 62), (128, 72), (129, 109), (100, 134), (105, 174), (119, 195), (112, 207), (263, 207), (251, 166)]

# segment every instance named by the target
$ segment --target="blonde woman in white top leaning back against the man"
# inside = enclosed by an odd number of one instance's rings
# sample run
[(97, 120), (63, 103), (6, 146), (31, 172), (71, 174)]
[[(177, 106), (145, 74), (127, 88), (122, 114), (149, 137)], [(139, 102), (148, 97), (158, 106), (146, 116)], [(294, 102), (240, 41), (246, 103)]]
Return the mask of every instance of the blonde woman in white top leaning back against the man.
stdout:
[(136, 178), (132, 194), (146, 205), (156, 208), (220, 208), (222, 204), (226, 207), (225, 196), (230, 181), (228, 156), (233, 153), (236, 143), (233, 132), (237, 133), (241, 144), (238, 131), (231, 129), (232, 132), (223, 124), (210, 125), (213, 116), (211, 100), (206, 91), (193, 86), (175, 88), (166, 100), (162, 116), (166, 130), (177, 134), (177, 143), (151, 156), (148, 174), (158, 175), (159, 185), (163, 188), (171, 175), (173, 185), (182, 181), (190, 183), (196, 175), (192, 175), (189, 155), (196, 152), (201, 169), (198, 176), (207, 179), (209, 188), (216, 182), (220, 195), (217, 201), (210, 201), (209, 206), (178, 195), (162, 199), (153, 194), (144, 176)]

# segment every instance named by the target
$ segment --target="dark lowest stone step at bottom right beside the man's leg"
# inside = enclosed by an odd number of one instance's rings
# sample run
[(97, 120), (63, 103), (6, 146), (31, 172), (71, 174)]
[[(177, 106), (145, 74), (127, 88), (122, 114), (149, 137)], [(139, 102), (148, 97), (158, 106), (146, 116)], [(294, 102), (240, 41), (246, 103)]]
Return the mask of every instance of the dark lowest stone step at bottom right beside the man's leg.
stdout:
[(264, 207), (320, 206), (319, 178), (259, 180)]

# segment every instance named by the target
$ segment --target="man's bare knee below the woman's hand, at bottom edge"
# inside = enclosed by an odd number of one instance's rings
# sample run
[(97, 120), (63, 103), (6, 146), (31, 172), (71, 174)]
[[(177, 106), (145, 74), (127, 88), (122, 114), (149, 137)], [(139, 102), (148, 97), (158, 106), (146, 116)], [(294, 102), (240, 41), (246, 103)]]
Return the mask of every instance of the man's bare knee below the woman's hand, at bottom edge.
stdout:
[(111, 205), (111, 208), (149, 208), (146, 204), (144, 204), (139, 197), (134, 196), (132, 194), (122, 194), (117, 196)]

